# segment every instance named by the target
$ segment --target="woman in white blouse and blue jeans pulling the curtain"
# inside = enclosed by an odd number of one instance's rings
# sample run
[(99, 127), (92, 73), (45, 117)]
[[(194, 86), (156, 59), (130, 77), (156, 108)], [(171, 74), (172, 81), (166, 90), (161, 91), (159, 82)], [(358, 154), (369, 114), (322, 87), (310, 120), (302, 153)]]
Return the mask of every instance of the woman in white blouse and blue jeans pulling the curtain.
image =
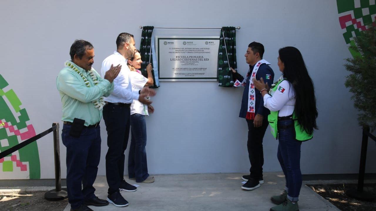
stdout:
[[(153, 86), (152, 65), (147, 65), (147, 78), (141, 74), (138, 68), (141, 68), (141, 55), (135, 50), (133, 57), (127, 61), (130, 69), (130, 82), (133, 90), (141, 90), (143, 87)], [(128, 157), (128, 175), (129, 179), (136, 179), (136, 182), (151, 183), (154, 182), (154, 176), (150, 176), (147, 171), (146, 160), (146, 121), (145, 115), (154, 112), (152, 105), (145, 105), (142, 102), (133, 99), (130, 105), (130, 130), (131, 140)]]

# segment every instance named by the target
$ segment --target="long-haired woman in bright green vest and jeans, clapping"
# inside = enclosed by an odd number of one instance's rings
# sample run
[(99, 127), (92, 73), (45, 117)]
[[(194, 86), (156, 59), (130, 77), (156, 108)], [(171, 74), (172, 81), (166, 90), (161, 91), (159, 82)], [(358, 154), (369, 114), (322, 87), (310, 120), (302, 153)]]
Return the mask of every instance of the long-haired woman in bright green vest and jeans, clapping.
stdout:
[(298, 211), (297, 201), (302, 187), (300, 172), (300, 146), (302, 141), (312, 139), (316, 125), (317, 109), (314, 86), (309, 77), (302, 54), (295, 47), (278, 51), (280, 79), (271, 85), (253, 80), (261, 91), (264, 106), (270, 110), (268, 122), (271, 133), (278, 139), (277, 158), (286, 178), (281, 195), (272, 196), (271, 211)]

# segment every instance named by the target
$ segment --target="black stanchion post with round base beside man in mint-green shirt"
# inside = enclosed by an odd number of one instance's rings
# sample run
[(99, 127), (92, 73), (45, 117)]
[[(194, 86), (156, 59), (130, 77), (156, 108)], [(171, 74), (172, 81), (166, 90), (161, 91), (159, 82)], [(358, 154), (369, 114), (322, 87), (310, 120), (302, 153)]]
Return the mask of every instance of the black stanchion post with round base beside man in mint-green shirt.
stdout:
[(60, 144), (59, 144), (59, 123), (54, 122), (52, 127), (56, 125), (53, 130), (53, 149), (55, 155), (55, 189), (47, 191), (44, 198), (50, 201), (59, 201), (68, 197), (67, 188), (61, 188), (61, 174), (60, 174)]

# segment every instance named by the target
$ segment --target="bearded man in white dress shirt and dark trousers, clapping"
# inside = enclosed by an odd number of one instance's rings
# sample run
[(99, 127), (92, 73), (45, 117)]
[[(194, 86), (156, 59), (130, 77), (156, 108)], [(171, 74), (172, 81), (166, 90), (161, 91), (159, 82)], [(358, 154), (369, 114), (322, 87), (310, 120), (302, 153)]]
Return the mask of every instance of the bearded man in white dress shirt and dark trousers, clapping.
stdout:
[(106, 154), (106, 178), (108, 183), (108, 202), (115, 206), (127, 206), (129, 203), (120, 194), (120, 190), (132, 192), (136, 187), (127, 183), (124, 178), (124, 151), (127, 148), (130, 128), (130, 104), (133, 99), (144, 104), (151, 101), (146, 96), (155, 95), (155, 91), (147, 87), (140, 91), (132, 90), (130, 83), (130, 70), (127, 59), (132, 57), (135, 50), (135, 40), (129, 33), (120, 33), (116, 39), (117, 50), (102, 62), (102, 75), (111, 64), (122, 65), (121, 71), (114, 80), (114, 91), (105, 97), (106, 105), (103, 107), (103, 119), (107, 130), (108, 151)]

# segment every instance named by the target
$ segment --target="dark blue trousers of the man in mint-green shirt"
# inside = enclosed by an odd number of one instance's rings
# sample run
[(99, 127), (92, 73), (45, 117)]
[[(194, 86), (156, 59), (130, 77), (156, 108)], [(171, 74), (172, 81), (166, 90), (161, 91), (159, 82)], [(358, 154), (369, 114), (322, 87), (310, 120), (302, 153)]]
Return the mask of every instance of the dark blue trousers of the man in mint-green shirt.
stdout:
[[(93, 187), (100, 160), (100, 127), (83, 128), (81, 136), (69, 135), (71, 125), (63, 125), (62, 142), (67, 147), (67, 191), (71, 208), (95, 197)], [(83, 187), (83, 188), (82, 188)]]

